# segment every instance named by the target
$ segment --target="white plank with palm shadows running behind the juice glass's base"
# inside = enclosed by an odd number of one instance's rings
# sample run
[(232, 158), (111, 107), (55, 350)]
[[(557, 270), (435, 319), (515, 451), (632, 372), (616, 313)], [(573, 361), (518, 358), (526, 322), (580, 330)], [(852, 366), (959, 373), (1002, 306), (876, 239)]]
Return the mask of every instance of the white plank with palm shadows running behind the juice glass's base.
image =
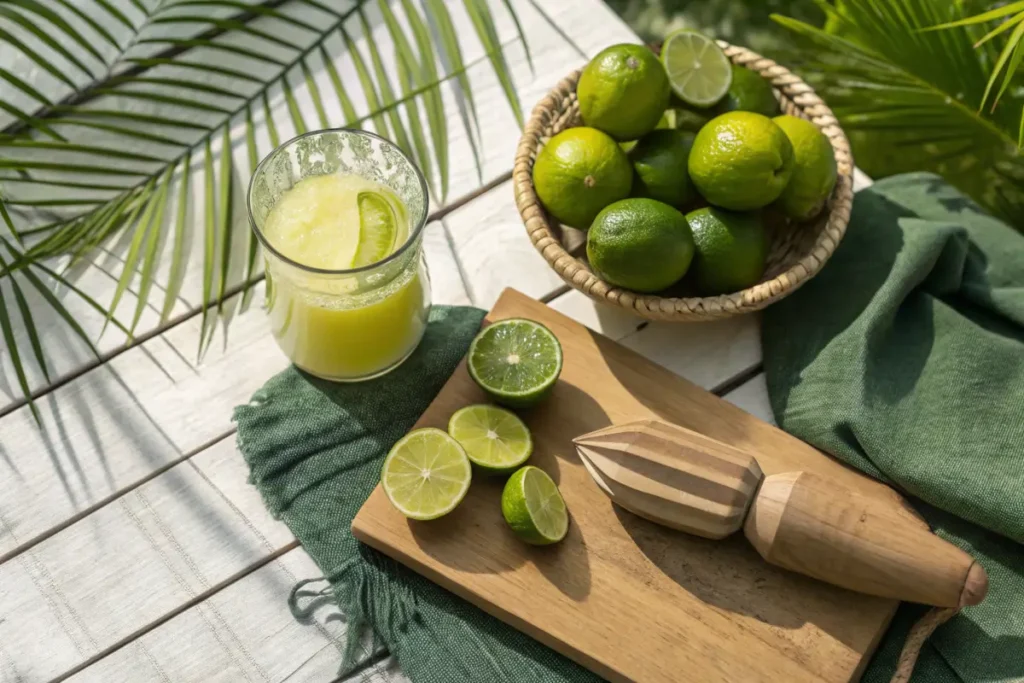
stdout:
[[(468, 296), (439, 222), (424, 249), (433, 301)], [(255, 300), (261, 301), (262, 286)], [(195, 361), (198, 316), (0, 418), (0, 559), (232, 430), (231, 410), (287, 366), (254, 306)]]

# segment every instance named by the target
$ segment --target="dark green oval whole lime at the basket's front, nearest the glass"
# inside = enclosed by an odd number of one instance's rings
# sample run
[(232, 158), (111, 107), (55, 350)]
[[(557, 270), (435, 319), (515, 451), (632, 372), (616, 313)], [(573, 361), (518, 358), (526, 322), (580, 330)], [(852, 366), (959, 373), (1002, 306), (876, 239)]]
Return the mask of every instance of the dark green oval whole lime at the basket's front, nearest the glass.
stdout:
[(587, 258), (605, 282), (636, 292), (658, 292), (686, 274), (693, 237), (682, 213), (646, 198), (615, 202), (594, 219)]

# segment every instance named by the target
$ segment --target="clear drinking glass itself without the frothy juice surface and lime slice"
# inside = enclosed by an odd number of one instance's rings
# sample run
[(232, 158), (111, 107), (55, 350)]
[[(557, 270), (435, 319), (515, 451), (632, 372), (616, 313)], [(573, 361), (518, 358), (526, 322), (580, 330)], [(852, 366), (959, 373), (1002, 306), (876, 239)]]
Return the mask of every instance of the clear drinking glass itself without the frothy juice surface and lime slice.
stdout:
[[(376, 263), (345, 270), (281, 254), (263, 231), (267, 215), (303, 178), (334, 173), (388, 186), (406, 207), (404, 244)], [(430, 311), (427, 203), (419, 169), (393, 143), (366, 131), (306, 133), (260, 162), (249, 183), (249, 221), (263, 245), (271, 331), (296, 366), (326, 380), (356, 382), (394, 370), (412, 354)]]

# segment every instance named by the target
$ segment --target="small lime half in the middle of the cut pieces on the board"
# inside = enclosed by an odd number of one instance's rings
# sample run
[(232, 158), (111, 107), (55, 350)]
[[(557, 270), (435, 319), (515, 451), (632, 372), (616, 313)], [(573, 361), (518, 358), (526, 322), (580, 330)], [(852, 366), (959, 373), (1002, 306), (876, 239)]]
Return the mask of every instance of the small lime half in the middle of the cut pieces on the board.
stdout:
[(449, 434), (470, 462), (485, 472), (507, 474), (534, 453), (529, 429), (514, 413), (496, 405), (469, 405), (449, 420)]

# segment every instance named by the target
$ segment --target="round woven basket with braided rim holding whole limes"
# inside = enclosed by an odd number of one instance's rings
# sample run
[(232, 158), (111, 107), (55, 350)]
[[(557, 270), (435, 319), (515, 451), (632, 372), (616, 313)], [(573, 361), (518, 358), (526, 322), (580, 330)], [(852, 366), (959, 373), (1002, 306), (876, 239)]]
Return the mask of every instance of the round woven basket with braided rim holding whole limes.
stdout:
[(580, 71), (575, 71), (534, 108), (516, 150), (512, 180), (516, 205), (534, 246), (562, 280), (596, 301), (622, 306), (652, 321), (710, 321), (760, 310), (813, 278), (846, 232), (853, 203), (853, 157), (831, 110), (784, 67), (745, 48), (722, 41), (718, 44), (734, 63), (757, 72), (775, 87), (785, 114), (808, 119), (828, 137), (839, 166), (836, 189), (814, 220), (769, 230), (767, 267), (754, 287), (716, 297), (662, 297), (609, 285), (574, 255), (583, 255), (583, 233), (549, 216), (534, 190), (534, 161), (541, 147), (551, 136), (582, 125), (575, 94)]

